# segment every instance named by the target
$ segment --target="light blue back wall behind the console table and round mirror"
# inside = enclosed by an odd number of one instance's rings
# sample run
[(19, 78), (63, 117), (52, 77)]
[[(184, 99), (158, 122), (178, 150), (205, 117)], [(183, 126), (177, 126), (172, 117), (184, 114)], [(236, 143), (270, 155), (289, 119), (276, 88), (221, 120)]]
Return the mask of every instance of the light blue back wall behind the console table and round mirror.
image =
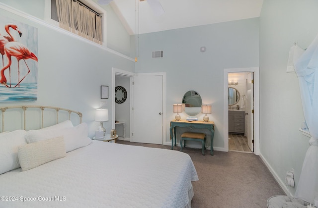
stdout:
[[(172, 104), (181, 103), (189, 90), (197, 91), (203, 104), (212, 104), (210, 120), (216, 124), (214, 147), (224, 148), (224, 69), (258, 67), (259, 19), (190, 27), (140, 35), (137, 73), (166, 72), (166, 138), (169, 141)], [(131, 37), (134, 43), (135, 37)], [(205, 46), (206, 52), (200, 52)], [(163, 58), (152, 59), (152, 51)], [(226, 92), (227, 93), (227, 92)], [(181, 118), (185, 119), (182, 113)], [(203, 114), (198, 117), (202, 120)]]

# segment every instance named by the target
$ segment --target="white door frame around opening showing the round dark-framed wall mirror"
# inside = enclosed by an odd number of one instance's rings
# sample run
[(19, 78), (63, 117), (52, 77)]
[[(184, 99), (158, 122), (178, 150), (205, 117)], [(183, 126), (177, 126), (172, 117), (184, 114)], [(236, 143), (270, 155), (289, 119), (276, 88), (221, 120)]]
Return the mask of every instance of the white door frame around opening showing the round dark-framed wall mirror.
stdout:
[[(132, 85), (133, 85), (133, 82), (132, 82), (132, 77), (135, 76), (135, 73), (133, 72), (129, 72), (129, 71), (125, 71), (125, 70), (122, 70), (122, 69), (117, 69), (117, 68), (114, 68), (112, 67), (112, 76), (111, 76), (111, 119), (112, 119), (112, 129), (115, 129), (116, 128), (116, 124), (115, 124), (115, 115), (116, 115), (116, 107), (115, 107), (115, 77), (116, 75), (119, 75), (119, 76), (126, 76), (126, 77), (129, 77), (129, 88), (130, 88), (130, 92), (132, 92)], [(129, 105), (129, 112), (130, 112), (130, 131), (129, 131), (129, 140), (130, 140), (130, 137), (132, 135), (132, 98), (133, 96), (129, 96), (130, 100), (130, 105)], [(127, 136), (126, 136), (127, 137)]]

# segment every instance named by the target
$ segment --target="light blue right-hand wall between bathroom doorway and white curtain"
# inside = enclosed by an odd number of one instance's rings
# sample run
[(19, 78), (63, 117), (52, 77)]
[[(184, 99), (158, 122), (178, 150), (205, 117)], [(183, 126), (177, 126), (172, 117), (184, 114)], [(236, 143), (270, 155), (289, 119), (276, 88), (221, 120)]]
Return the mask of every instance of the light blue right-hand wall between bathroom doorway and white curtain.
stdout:
[(316, 37), (317, 10), (317, 0), (264, 0), (260, 15), (260, 151), (283, 183), (294, 168), (296, 187), (309, 138), (298, 130), (304, 121), (299, 83), (286, 66), (295, 42), (306, 49)]

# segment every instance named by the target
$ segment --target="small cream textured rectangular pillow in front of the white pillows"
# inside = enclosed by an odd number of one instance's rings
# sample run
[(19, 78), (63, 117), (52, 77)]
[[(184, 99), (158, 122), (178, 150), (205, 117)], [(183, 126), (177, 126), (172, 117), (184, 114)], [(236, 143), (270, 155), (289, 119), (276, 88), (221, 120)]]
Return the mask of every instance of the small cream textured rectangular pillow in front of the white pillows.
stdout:
[(66, 156), (63, 136), (47, 139), (18, 147), (22, 171)]

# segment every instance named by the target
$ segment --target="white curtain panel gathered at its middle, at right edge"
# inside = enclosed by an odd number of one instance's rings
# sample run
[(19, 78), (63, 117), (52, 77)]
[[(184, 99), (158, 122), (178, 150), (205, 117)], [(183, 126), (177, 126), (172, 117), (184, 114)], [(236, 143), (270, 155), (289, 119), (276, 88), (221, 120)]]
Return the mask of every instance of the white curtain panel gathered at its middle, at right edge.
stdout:
[(318, 206), (318, 36), (295, 63), (311, 139), (295, 197)]

